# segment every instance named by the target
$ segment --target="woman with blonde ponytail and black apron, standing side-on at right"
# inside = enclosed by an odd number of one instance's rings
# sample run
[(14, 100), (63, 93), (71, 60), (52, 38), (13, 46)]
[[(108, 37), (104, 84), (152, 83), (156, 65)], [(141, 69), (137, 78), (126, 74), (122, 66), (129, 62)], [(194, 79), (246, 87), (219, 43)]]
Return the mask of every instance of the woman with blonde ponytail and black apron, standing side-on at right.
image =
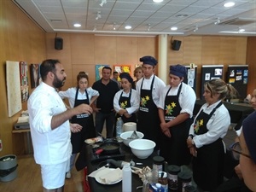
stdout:
[(187, 140), (193, 158), (193, 177), (198, 189), (213, 191), (223, 183), (223, 137), (230, 126), (230, 113), (222, 100), (234, 98), (236, 89), (222, 79), (212, 79), (204, 86), (206, 103), (190, 126)]

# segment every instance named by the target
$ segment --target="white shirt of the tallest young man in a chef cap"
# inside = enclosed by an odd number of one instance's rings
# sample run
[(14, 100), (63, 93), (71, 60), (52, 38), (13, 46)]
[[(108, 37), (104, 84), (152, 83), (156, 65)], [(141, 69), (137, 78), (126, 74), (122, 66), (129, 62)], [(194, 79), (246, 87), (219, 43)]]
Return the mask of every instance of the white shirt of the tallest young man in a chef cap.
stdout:
[(160, 102), (161, 91), (166, 87), (166, 84), (162, 81), (162, 79), (160, 79), (156, 75), (151, 75), (149, 79), (146, 79), (146, 78), (139, 79), (139, 81), (136, 84), (136, 90), (138, 95), (140, 96), (142, 83), (143, 83), (143, 90), (150, 90), (153, 77), (154, 77), (154, 84), (153, 84), (152, 96), (153, 96), (154, 104), (158, 106)]

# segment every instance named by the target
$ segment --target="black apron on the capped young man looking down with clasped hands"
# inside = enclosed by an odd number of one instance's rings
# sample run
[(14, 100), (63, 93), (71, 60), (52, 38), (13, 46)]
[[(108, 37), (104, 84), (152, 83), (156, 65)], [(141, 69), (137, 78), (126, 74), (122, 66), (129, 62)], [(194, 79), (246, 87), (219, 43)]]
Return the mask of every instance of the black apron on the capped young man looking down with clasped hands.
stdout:
[[(168, 96), (172, 87), (166, 93), (164, 109), (166, 123), (175, 119), (182, 110), (178, 102), (182, 85), (179, 86), (177, 96)], [(172, 137), (166, 137), (162, 131), (160, 132), (160, 156), (163, 156), (169, 165), (183, 166), (190, 163), (191, 156), (187, 145), (190, 122), (189, 118), (179, 125), (172, 126), (170, 128)]]

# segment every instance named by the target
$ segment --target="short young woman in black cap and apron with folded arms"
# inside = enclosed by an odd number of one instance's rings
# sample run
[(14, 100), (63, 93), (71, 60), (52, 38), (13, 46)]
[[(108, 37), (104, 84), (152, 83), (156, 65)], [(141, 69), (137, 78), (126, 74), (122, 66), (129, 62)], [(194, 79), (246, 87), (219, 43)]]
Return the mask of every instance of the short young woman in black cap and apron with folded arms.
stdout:
[(113, 97), (113, 108), (121, 116), (124, 123), (137, 123), (136, 112), (139, 108), (139, 96), (137, 91), (131, 89), (133, 79), (129, 73), (120, 73), (122, 90), (119, 90)]

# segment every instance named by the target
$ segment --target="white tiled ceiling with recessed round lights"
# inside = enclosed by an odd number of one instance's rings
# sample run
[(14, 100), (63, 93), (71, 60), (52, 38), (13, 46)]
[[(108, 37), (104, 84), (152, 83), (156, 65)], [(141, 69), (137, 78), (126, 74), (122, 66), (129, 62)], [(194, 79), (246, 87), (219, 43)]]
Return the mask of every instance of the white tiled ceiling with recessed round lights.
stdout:
[[(13, 0), (45, 32), (256, 36), (256, 0), (230, 1), (236, 3), (232, 8), (224, 8), (224, 0)], [(82, 26), (74, 27), (77, 22)], [(125, 30), (125, 25), (132, 28)]]

